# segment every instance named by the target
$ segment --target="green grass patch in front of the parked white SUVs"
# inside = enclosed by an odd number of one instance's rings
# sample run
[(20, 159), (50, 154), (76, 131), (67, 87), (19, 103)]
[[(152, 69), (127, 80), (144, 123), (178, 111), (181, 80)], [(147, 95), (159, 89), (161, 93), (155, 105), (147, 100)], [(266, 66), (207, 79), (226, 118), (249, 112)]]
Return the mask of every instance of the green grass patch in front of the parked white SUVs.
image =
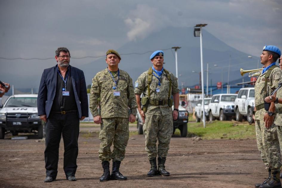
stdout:
[[(178, 129), (176, 134), (180, 134)], [(213, 121), (206, 122), (206, 128), (202, 122), (188, 123), (188, 137), (199, 136), (202, 139), (255, 139), (255, 126), (247, 122)]]

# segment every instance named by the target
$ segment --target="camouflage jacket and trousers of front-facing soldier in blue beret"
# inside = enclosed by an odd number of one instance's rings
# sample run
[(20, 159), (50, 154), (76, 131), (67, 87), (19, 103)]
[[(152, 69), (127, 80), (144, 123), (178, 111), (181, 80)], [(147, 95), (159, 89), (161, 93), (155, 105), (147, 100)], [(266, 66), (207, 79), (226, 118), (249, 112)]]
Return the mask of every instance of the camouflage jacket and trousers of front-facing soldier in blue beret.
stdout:
[[(169, 72), (171, 77), (171, 93), (169, 94), (169, 79), (165, 71), (161, 75), (161, 86), (158, 86), (159, 80), (152, 76), (150, 84), (151, 100), (168, 100), (168, 97), (179, 93), (177, 78)], [(156, 88), (160, 88), (160, 92)], [(148, 71), (142, 73), (135, 82), (135, 94), (148, 97)], [(145, 145), (148, 158), (155, 158), (158, 154), (161, 158), (167, 157), (169, 142), (173, 132), (172, 108), (168, 105), (148, 105), (146, 119), (143, 125), (145, 134)], [(156, 142), (158, 139), (158, 149)]]

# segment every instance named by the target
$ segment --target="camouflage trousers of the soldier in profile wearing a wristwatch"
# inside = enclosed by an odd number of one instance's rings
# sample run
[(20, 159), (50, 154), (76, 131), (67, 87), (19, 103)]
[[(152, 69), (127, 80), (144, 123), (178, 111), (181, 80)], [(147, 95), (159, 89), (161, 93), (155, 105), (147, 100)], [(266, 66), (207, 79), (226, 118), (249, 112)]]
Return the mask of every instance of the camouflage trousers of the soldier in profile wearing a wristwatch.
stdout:
[(263, 120), (255, 120), (258, 151), (266, 166), (280, 171), (281, 154), (277, 134), (277, 125), (274, 123), (269, 129), (264, 126)]

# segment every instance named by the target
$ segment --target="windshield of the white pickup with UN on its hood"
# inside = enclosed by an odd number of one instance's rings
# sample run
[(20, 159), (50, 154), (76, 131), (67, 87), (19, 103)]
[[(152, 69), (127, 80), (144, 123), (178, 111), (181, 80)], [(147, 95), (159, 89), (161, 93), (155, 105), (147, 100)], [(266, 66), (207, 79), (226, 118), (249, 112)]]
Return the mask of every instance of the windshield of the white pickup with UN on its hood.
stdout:
[(37, 107), (37, 97), (11, 97), (5, 107)]

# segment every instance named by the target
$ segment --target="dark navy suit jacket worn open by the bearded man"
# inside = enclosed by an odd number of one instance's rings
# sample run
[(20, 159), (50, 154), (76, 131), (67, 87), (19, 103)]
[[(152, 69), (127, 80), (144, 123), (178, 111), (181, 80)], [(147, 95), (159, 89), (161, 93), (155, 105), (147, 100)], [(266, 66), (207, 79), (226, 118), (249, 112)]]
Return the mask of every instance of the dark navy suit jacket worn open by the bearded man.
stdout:
[[(44, 69), (42, 73), (37, 97), (38, 116), (46, 114), (47, 118), (49, 117), (53, 99), (56, 94), (57, 66), (58, 65), (49, 69)], [(84, 73), (82, 70), (73, 66), (70, 66), (70, 72), (78, 117), (79, 119), (82, 116), (88, 117), (88, 97)]]

